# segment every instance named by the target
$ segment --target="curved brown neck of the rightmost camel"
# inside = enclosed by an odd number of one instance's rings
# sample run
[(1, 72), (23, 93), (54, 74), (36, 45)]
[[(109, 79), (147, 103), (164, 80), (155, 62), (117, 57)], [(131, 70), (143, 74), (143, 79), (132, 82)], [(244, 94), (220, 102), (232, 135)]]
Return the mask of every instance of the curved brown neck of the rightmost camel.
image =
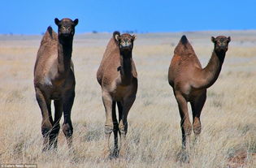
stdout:
[(221, 67), (225, 58), (225, 52), (216, 52), (215, 50), (211, 54), (210, 61), (207, 66), (202, 70), (203, 80), (202, 88), (209, 88), (219, 77)]

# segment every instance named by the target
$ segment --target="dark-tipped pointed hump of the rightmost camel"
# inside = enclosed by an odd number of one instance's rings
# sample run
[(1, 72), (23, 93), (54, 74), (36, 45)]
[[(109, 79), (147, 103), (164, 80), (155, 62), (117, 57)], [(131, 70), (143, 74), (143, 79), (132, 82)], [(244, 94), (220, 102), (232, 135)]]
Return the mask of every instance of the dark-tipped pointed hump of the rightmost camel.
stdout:
[(189, 40), (185, 35), (180, 38), (180, 41), (174, 50), (174, 54), (179, 54), (180, 56), (195, 54), (192, 45), (190, 45)]

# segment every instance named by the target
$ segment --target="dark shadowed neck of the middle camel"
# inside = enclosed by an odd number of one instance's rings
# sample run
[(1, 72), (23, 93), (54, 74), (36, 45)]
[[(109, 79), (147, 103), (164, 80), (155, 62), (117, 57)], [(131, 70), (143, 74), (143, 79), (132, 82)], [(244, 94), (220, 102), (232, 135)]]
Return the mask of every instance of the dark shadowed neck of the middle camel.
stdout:
[(132, 51), (120, 52), (120, 75), (122, 84), (128, 85), (132, 82)]

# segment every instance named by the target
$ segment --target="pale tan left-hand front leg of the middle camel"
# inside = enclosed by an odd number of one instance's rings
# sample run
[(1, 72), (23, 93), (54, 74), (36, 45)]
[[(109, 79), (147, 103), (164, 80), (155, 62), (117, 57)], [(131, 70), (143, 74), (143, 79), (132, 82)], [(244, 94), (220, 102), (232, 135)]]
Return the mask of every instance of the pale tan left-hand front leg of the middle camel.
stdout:
[(105, 122), (105, 146), (103, 149), (103, 157), (107, 157), (109, 155), (109, 141), (111, 137), (111, 132), (113, 131), (113, 119), (112, 119), (112, 107), (113, 101), (112, 97), (109, 93), (102, 91), (102, 101), (106, 111), (106, 122)]

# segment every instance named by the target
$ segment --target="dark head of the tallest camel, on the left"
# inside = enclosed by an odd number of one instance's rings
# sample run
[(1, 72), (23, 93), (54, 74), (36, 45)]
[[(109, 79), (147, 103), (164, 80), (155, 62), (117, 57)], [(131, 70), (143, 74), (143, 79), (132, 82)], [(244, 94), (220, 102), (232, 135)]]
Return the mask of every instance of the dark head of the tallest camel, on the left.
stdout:
[(75, 27), (78, 24), (78, 19), (72, 21), (72, 19), (64, 18), (59, 20), (54, 19), (55, 24), (58, 26), (58, 36), (61, 38), (72, 38), (75, 34)]

